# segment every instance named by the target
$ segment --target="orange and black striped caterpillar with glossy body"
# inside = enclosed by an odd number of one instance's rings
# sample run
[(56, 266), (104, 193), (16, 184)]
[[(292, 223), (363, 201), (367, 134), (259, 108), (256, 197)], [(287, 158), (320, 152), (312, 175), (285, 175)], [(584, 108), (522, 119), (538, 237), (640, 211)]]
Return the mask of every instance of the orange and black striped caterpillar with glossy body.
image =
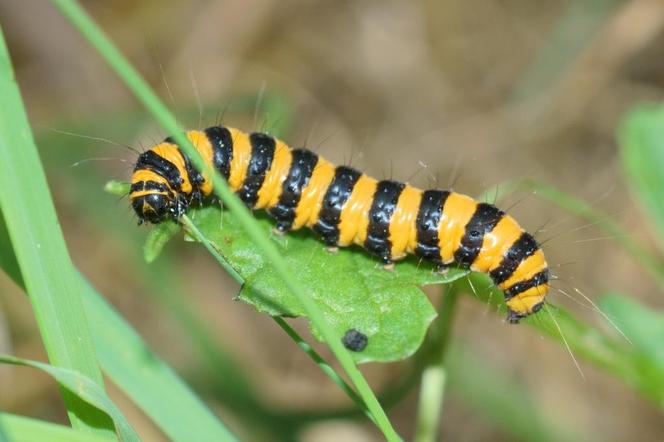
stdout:
[[(335, 166), (264, 133), (213, 126), (186, 132), (206, 164), (251, 209), (266, 209), (284, 233), (309, 227), (329, 247), (358, 244), (386, 266), (409, 254), (439, 268), (488, 273), (503, 291), (507, 321), (539, 311), (549, 269), (535, 238), (496, 206), (450, 190), (421, 190)], [(129, 199), (139, 224), (178, 220), (212, 194), (172, 138), (140, 154)]]

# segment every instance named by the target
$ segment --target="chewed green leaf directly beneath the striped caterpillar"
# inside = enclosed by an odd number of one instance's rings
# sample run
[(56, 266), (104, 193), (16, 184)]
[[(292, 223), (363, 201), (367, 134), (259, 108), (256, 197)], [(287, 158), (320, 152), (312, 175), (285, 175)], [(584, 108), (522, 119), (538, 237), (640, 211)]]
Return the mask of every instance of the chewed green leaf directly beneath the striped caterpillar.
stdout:
[[(265, 232), (274, 223), (257, 214)], [(237, 219), (217, 207), (192, 211), (194, 223), (245, 281), (239, 299), (272, 316), (306, 316), (298, 299), (239, 225)], [(441, 275), (416, 260), (399, 262), (394, 271), (359, 248), (336, 253), (311, 232), (273, 236), (287, 265), (308, 288), (339, 336), (355, 329), (369, 340), (353, 353), (356, 362), (394, 361), (419, 348), (436, 316), (421, 285), (442, 284), (467, 274), (451, 269)], [(319, 337), (320, 339), (320, 337)]]

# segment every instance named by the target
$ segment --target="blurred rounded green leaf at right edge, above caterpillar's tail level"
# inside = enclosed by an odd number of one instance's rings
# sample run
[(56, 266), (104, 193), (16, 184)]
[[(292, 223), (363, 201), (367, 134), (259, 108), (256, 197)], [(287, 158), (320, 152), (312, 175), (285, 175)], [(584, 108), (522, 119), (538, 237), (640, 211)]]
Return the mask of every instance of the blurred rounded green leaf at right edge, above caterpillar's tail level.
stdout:
[(664, 245), (664, 106), (632, 110), (619, 128), (623, 167)]

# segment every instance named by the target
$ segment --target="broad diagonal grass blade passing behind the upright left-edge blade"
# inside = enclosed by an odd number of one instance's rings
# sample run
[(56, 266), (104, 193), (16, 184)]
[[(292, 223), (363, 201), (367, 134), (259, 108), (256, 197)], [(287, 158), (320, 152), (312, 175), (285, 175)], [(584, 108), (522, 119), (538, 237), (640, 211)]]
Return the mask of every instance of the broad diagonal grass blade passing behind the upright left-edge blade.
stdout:
[[(0, 216), (0, 244), (4, 243), (9, 238)], [(23, 286), (11, 248), (0, 248), (0, 268)], [(172, 440), (237, 440), (133, 327), (80, 278), (99, 362), (109, 378)]]

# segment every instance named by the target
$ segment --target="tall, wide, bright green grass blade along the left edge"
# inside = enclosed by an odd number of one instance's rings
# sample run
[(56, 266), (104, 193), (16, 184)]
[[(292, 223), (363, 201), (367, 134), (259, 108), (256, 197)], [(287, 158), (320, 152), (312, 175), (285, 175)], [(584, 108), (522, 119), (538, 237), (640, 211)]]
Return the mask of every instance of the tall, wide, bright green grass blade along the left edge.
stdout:
[[(9, 53), (0, 33), (0, 208), (53, 365), (78, 371), (103, 386), (81, 287), (62, 237), (34, 145)], [(108, 419), (63, 394), (75, 428), (112, 434)]]

